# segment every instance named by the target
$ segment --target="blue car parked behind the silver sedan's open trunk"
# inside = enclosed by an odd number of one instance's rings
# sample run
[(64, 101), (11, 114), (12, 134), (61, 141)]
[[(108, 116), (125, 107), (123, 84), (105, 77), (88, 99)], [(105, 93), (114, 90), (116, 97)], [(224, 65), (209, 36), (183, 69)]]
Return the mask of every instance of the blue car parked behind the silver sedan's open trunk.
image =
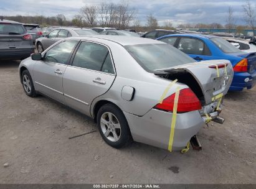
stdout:
[(256, 83), (256, 52), (245, 53), (221, 37), (203, 34), (173, 34), (159, 37), (196, 61), (225, 59), (232, 63), (234, 78), (230, 91), (250, 89)]

